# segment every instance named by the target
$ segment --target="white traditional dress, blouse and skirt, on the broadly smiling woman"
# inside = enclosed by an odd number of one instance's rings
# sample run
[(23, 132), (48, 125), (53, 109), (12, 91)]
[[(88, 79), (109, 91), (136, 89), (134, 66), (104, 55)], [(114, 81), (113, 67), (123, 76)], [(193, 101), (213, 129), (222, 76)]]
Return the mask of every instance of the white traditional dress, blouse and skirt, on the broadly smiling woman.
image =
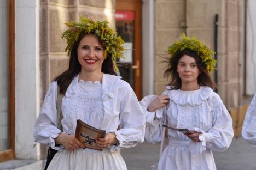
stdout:
[(55, 145), (54, 138), (61, 133), (56, 127), (57, 82), (50, 84), (34, 125), (35, 141), (59, 150), (48, 169), (126, 169), (119, 148), (134, 147), (144, 141), (145, 117), (132, 88), (120, 78), (103, 74), (101, 84), (78, 81), (77, 76), (62, 99), (64, 133), (74, 135), (77, 119), (81, 119), (117, 135), (119, 145), (111, 145), (103, 151), (87, 148), (68, 151), (63, 145)]

